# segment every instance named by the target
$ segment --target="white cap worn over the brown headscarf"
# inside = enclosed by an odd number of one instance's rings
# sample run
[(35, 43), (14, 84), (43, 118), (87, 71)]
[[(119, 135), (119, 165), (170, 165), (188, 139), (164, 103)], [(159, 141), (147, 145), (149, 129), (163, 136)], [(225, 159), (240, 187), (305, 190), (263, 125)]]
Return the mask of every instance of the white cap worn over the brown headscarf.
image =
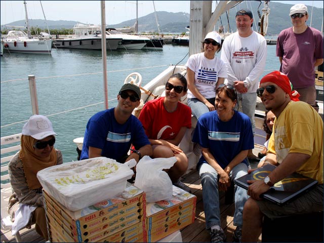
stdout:
[(51, 135), (57, 135), (51, 121), (44, 115), (32, 115), (22, 128), (22, 135), (31, 136), (34, 139), (42, 140)]

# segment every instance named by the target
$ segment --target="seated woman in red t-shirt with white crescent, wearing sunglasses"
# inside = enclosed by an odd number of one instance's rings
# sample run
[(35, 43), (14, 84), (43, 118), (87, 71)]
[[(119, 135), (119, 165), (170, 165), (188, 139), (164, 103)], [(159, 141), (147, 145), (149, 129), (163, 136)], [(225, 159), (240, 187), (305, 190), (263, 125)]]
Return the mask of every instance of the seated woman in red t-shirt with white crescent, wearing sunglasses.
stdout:
[(191, 189), (180, 181), (187, 171), (188, 158), (178, 147), (186, 130), (191, 128), (191, 109), (180, 102), (187, 94), (187, 80), (180, 73), (173, 74), (166, 84), (166, 96), (146, 102), (139, 120), (153, 148), (153, 157), (177, 158), (168, 170), (172, 183), (188, 192)]

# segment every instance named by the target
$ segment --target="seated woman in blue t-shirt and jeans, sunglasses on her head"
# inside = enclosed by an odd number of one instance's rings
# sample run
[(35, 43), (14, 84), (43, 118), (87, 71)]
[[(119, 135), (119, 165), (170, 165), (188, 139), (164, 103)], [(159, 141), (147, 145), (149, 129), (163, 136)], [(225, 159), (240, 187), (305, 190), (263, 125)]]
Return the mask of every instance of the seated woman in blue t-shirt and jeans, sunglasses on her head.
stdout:
[[(216, 110), (200, 116), (192, 139), (200, 144), (203, 154), (197, 169), (203, 185), (206, 229), (212, 242), (226, 239), (221, 228), (219, 190), (226, 191), (235, 179), (248, 174), (248, 150), (254, 148), (250, 118), (234, 110), (236, 102), (234, 87), (221, 84), (216, 90)], [(234, 241), (240, 241), (247, 198), (247, 190), (235, 186)]]

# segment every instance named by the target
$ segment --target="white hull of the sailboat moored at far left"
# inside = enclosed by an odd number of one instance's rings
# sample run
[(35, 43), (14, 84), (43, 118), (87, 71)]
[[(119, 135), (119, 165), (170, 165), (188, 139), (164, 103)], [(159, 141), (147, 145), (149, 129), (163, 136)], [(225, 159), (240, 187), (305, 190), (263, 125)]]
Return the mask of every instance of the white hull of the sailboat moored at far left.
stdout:
[(4, 49), (9, 52), (16, 52), (16, 53), (44, 53), (48, 54), (52, 51), (52, 40), (33, 40), (29, 41), (15, 41), (13, 40), (6, 40), (4, 41)]

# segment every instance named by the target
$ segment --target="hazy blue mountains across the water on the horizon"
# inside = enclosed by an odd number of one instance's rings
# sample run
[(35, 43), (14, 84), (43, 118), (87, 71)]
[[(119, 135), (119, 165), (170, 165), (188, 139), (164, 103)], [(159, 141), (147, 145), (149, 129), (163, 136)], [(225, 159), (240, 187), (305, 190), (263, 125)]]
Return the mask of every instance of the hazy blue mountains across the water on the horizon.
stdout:
[[(257, 29), (259, 30), (258, 27), (258, 7), (260, 3), (258, 1), (251, 1), (250, 2), (252, 5), (253, 9), (253, 14), (254, 14), (254, 19), (255, 22), (253, 23), (254, 30)], [(289, 11), (290, 8), (293, 6), (293, 4), (281, 4), (281, 3), (274, 3), (270, 2), (269, 7), (270, 7), (270, 14), (269, 14), (269, 23), (268, 23), (268, 32), (267, 35), (277, 35), (282, 29), (289, 28), (292, 26), (291, 20), (289, 17)], [(241, 6), (242, 7), (242, 4)], [(236, 7), (237, 8), (237, 7)], [(243, 7), (242, 7), (243, 8)], [(262, 13), (261, 9), (263, 8), (263, 4), (261, 4), (259, 11)], [(307, 6), (308, 11), (309, 11), (309, 18), (307, 21), (307, 24), (310, 25), (310, 18), (311, 18), (311, 6)], [(237, 9), (239, 10), (239, 9)], [(224, 27), (224, 31), (232, 32), (236, 31), (236, 24), (235, 24), (235, 8), (231, 9), (229, 11), (229, 17), (227, 20), (226, 14), (223, 14), (221, 16), (221, 20), (217, 22), (217, 28), (218, 29), (221, 25)], [(182, 33), (186, 32), (186, 26), (189, 25), (190, 23), (190, 15), (188, 13), (184, 12), (178, 12), (178, 13), (169, 13), (165, 11), (157, 11), (156, 12), (157, 19), (160, 25), (160, 31), (163, 33)], [(311, 26), (320, 30), (321, 29), (321, 23), (322, 23), (322, 18), (323, 18), (323, 9), (321, 8), (313, 8), (313, 13), (312, 13), (312, 24)], [(47, 26), (45, 24), (45, 20), (40, 20), (40, 19), (35, 19), (35, 20), (29, 20), (30, 26), (36, 26), (41, 29), (47, 29)], [(127, 20), (124, 22), (121, 22), (119, 24), (113, 24), (113, 25), (108, 25), (111, 28), (124, 28), (124, 27), (129, 27), (133, 26), (135, 23), (136, 19), (131, 19)], [(64, 20), (58, 20), (58, 21), (52, 21), (48, 20), (48, 25), (50, 29), (70, 29), (72, 28), (75, 24), (78, 22), (76, 21), (64, 21)], [(15, 21), (12, 23), (8, 23), (7, 25), (16, 25), (16, 26), (24, 26), (25, 25), (25, 20), (20, 20), (20, 21)], [(1, 29), (4, 29), (5, 26), (2, 25)], [(144, 32), (157, 32), (157, 26), (156, 26), (156, 20), (155, 20), (155, 15), (154, 13), (148, 14), (146, 16), (138, 18), (138, 30), (141, 33)]]

